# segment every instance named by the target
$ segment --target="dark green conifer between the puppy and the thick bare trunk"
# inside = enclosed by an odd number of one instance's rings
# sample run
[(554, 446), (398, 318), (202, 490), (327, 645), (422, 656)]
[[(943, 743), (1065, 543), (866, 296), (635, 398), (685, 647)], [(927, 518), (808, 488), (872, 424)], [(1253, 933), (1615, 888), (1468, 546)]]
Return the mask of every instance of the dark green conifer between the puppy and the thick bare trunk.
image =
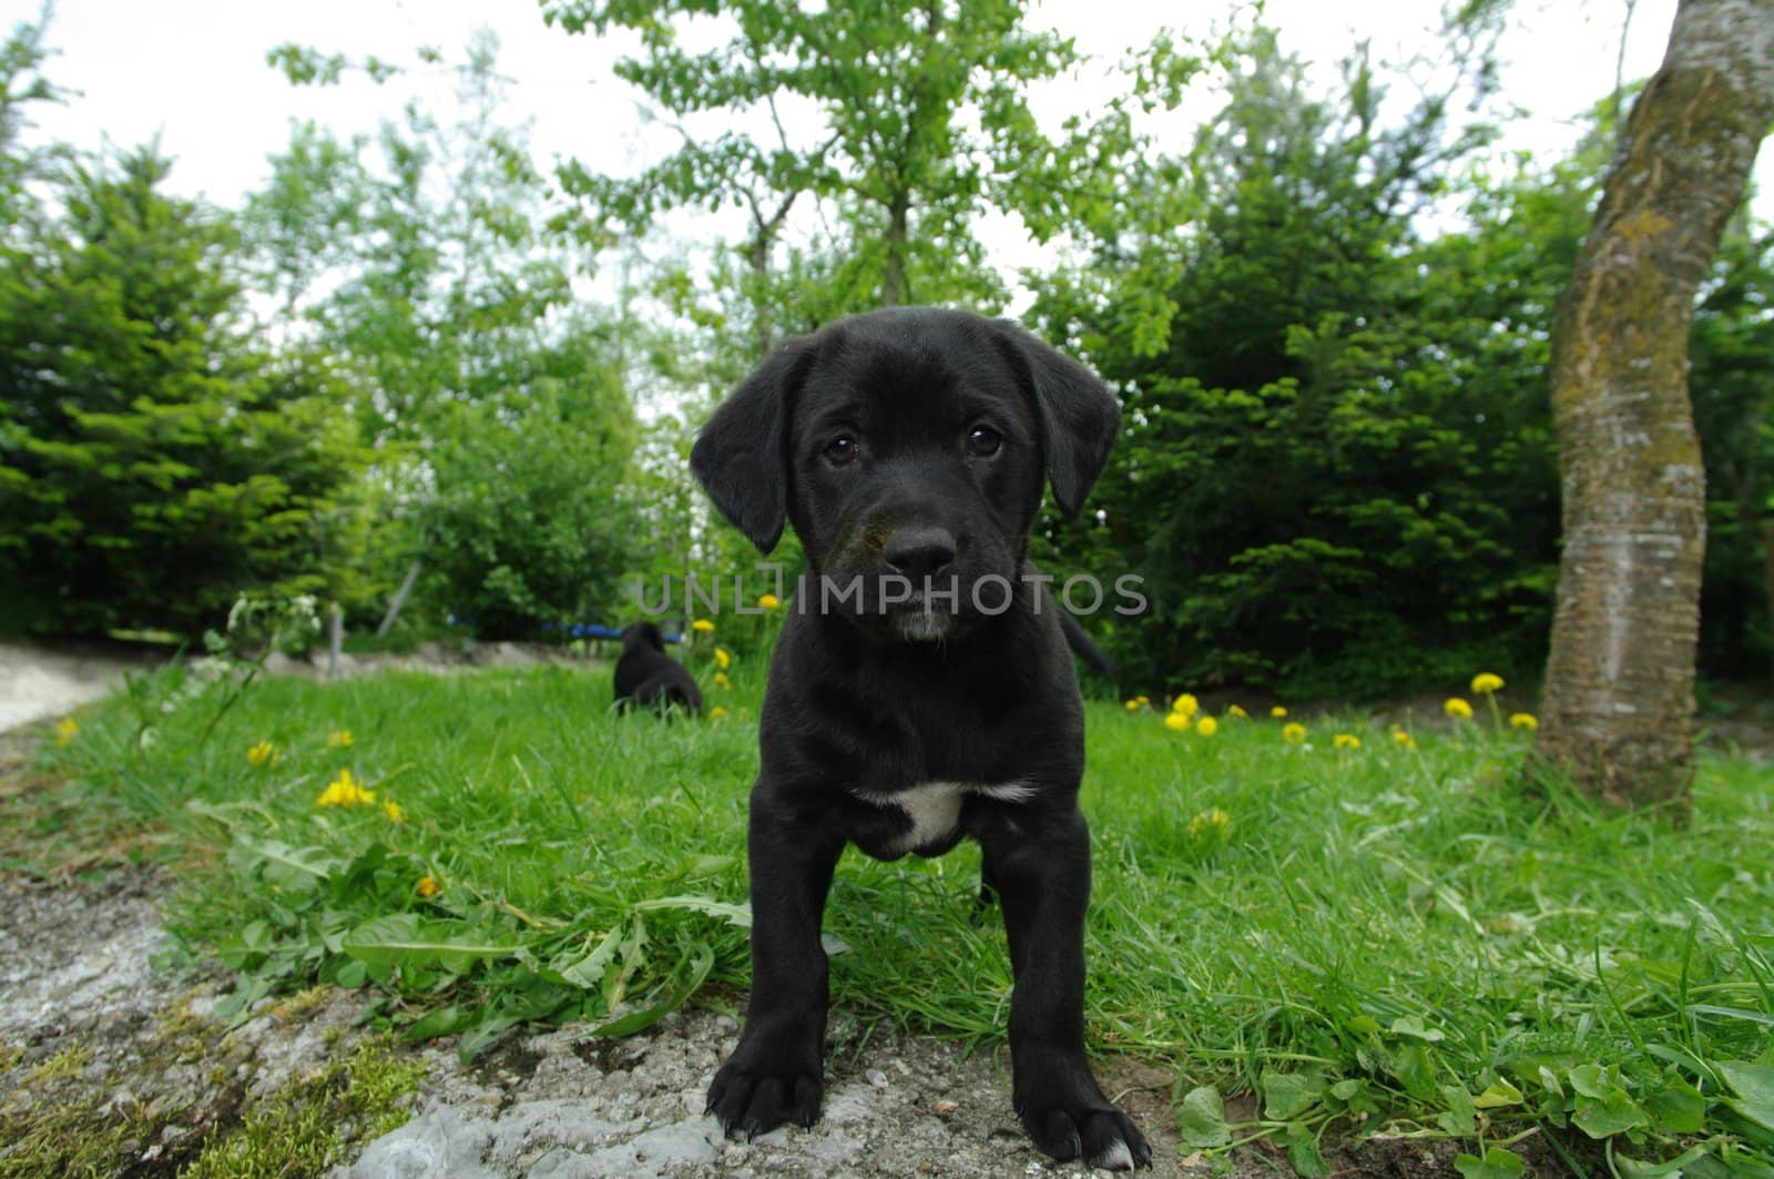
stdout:
[(1378, 694), (1519, 657), (1550, 581), (1556, 485), (1522, 321), (1556, 291), (1552, 250), (1524, 240), (1513, 195), (1483, 233), (1416, 238), (1483, 133), (1449, 126), (1446, 92), (1382, 119), (1357, 53), (1315, 96), (1263, 28), (1228, 64), (1190, 158), (1139, 160), (1095, 257), (1036, 302), (1126, 408), (1098, 518), (1043, 518), (1043, 558), (1148, 577), (1146, 616), (1098, 625), (1153, 691)]

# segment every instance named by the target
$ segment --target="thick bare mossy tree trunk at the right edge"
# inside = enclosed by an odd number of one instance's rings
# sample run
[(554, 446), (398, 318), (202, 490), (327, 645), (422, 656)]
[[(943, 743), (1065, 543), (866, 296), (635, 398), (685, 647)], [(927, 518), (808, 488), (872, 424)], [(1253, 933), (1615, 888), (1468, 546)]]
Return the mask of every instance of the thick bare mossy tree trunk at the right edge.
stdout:
[(1685, 803), (1707, 502), (1694, 295), (1774, 117), (1774, 0), (1684, 0), (1552, 334), (1565, 550), (1540, 751), (1618, 803)]

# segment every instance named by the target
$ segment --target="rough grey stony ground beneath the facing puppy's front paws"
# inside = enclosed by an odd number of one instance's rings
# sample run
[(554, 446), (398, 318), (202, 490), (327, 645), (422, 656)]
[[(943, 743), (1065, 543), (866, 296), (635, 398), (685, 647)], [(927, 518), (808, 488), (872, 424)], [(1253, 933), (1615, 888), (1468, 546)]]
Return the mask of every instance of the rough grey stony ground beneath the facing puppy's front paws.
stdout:
[[(624, 1041), (584, 1039), (573, 1028), (529, 1037), (475, 1071), (431, 1051), (433, 1081), (417, 1117), (339, 1175), (1086, 1174), (1027, 1143), (1002, 1060), (963, 1056), (924, 1037), (875, 1037), (841, 1053), (827, 1069), (825, 1115), (812, 1129), (722, 1138), (703, 1115), (703, 1094), (736, 1039), (731, 1017), (695, 1010)], [(1123, 1092), (1123, 1101), (1155, 1135), (1151, 1174), (1190, 1174), (1176, 1163), (1174, 1135), (1164, 1135), (1169, 1076), (1118, 1080), (1150, 1085)]]

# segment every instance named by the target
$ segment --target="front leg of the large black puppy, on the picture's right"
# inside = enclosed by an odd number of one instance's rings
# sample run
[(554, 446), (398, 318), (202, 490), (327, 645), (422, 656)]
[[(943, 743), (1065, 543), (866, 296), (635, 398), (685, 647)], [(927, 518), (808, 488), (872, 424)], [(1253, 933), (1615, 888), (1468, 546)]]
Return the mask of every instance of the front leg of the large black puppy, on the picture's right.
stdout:
[(1096, 1087), (1084, 1056), (1089, 827), (1077, 808), (1031, 819), (981, 838), (1017, 978), (1009, 1000), (1017, 1117), (1054, 1158), (1084, 1156), (1111, 1170), (1146, 1167), (1151, 1147)]

